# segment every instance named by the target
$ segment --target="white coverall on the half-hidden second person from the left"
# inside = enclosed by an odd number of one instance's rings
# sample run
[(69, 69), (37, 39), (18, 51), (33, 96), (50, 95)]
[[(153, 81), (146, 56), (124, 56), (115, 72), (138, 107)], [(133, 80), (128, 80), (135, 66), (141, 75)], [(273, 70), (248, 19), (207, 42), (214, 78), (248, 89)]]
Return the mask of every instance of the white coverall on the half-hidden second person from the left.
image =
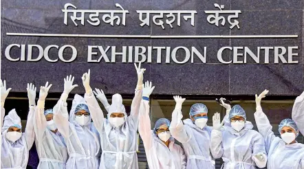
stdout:
[[(59, 131), (53, 133), (47, 128), (47, 120), (43, 112), (44, 109), (40, 109), (37, 106), (34, 115), (35, 142), (39, 155), (38, 168), (65, 168), (65, 163), (67, 162), (65, 140)], [(67, 109), (65, 109), (63, 115), (68, 119)]]

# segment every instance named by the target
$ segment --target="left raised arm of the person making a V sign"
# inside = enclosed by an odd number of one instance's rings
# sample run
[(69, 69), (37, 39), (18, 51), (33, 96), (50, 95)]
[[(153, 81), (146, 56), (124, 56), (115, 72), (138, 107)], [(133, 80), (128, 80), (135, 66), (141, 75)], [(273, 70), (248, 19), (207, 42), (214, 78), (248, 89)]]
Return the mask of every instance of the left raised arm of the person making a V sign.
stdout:
[[(92, 120), (94, 122), (94, 126), (97, 131), (101, 134), (103, 123), (105, 122), (105, 117), (103, 116), (103, 112), (100, 109), (100, 106), (94, 96), (94, 93), (89, 85), (89, 80), (91, 76), (91, 71), (87, 71), (87, 73), (83, 74), (83, 86), (85, 87), (85, 101), (87, 102), (87, 106), (89, 107), (89, 113), (91, 114)], [(96, 89), (96, 94), (102, 94), (99, 89)]]

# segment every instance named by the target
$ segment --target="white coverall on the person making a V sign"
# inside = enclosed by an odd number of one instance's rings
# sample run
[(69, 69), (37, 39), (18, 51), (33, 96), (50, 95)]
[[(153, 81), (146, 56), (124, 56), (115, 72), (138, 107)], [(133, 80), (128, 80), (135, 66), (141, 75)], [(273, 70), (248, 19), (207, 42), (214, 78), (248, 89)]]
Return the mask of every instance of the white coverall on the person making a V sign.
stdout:
[[(109, 123), (109, 120), (104, 117), (93, 92), (85, 93), (85, 100), (89, 106), (91, 117), (96, 129), (100, 133), (102, 148), (100, 168), (138, 169), (136, 135), (138, 131), (138, 113), (141, 98), (142, 89), (136, 89), (129, 117), (127, 117), (127, 113), (122, 112), (124, 110), (122, 104), (111, 104), (113, 107), (109, 107), (109, 115), (111, 115), (111, 113), (124, 113), (124, 124), (118, 128), (114, 128)], [(122, 100), (122, 98), (120, 98), (120, 100)], [(119, 107), (118, 112), (115, 111), (116, 106)], [(111, 110), (113, 110), (113, 112)]]

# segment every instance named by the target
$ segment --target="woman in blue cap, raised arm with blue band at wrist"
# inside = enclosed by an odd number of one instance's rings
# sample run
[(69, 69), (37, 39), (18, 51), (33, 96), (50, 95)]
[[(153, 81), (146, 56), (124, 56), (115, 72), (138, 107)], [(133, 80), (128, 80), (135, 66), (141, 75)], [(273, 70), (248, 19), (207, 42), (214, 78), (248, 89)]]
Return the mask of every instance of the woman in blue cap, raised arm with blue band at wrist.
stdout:
[(149, 95), (154, 87), (146, 82), (142, 89), (142, 102), (140, 104), (140, 124), (138, 131), (144, 143), (146, 160), (151, 169), (184, 169), (186, 168), (186, 155), (181, 146), (174, 143), (169, 126), (170, 121), (160, 118), (151, 131), (149, 117)]

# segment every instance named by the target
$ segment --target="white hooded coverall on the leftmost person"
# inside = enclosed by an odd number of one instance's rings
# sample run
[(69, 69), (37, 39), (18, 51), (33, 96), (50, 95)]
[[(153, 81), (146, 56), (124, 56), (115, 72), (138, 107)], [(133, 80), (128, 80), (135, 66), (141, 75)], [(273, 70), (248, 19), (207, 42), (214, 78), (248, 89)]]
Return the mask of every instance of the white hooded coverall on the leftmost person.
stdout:
[(6, 133), (8, 132), (8, 128), (14, 124), (21, 126), (21, 119), (15, 109), (12, 109), (8, 115), (4, 117), (6, 111), (1, 107), (1, 168), (21, 169), (26, 168), (28, 165), (29, 150), (32, 148), (35, 139), (33, 126), (34, 111), (34, 106), (30, 106), (25, 133), (22, 133), (21, 138), (13, 143), (6, 139)]

